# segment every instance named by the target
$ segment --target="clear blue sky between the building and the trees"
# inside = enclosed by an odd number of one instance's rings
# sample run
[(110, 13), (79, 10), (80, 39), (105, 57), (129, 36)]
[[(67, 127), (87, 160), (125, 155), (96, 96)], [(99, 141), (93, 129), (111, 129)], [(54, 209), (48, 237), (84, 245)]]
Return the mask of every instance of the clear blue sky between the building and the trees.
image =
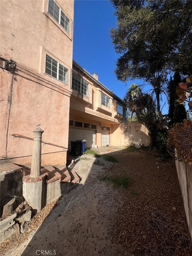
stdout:
[[(118, 55), (109, 32), (116, 26), (114, 11), (108, 0), (74, 1), (73, 59), (90, 74), (96, 72), (101, 83), (123, 98), (133, 82), (141, 84), (142, 81), (130, 80), (126, 86), (114, 74)], [(163, 112), (167, 113), (167, 109)]]

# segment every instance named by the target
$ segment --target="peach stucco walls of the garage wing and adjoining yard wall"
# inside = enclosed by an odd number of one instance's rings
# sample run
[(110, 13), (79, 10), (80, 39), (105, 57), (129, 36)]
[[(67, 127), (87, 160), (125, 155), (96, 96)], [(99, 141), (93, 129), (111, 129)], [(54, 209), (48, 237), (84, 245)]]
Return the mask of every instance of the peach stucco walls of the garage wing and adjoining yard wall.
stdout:
[[(117, 104), (122, 105), (121, 100), (95, 81), (83, 68), (73, 65), (73, 72), (89, 83), (88, 97), (73, 90), (70, 98), (70, 120), (87, 122), (97, 125), (95, 144), (101, 146), (101, 125), (110, 127), (110, 146), (136, 147), (144, 144), (149, 146), (150, 136), (145, 126), (138, 122), (126, 122), (122, 115), (117, 113)], [(110, 107), (101, 104), (101, 93), (110, 98)], [(71, 126), (72, 127), (72, 126)], [(74, 126), (73, 126), (74, 127)], [(86, 128), (78, 128), (85, 129)]]

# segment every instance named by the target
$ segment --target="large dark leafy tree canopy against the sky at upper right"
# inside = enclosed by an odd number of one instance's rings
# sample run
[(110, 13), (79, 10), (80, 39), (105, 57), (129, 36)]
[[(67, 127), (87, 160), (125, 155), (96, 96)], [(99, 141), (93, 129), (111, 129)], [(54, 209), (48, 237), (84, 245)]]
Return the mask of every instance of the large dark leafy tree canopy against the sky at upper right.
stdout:
[(192, 74), (192, 1), (111, 0), (117, 28), (110, 31), (120, 55), (116, 76), (129, 79), (163, 78), (178, 71)]

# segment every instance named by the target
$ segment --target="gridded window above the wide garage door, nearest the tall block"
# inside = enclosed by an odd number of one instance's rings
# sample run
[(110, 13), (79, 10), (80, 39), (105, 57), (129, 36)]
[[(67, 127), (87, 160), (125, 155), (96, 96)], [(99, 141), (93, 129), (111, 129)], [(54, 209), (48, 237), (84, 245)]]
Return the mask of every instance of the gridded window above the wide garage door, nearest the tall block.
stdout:
[(72, 89), (88, 96), (89, 84), (75, 73), (72, 73)]

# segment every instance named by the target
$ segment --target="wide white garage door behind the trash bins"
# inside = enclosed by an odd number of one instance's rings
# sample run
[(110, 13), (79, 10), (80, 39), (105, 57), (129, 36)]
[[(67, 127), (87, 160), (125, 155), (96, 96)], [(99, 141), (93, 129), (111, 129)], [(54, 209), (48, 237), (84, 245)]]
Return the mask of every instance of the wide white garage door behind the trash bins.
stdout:
[(85, 130), (78, 128), (69, 128), (69, 144), (68, 149), (71, 149), (70, 141), (87, 140), (85, 148), (95, 147), (95, 130)]

